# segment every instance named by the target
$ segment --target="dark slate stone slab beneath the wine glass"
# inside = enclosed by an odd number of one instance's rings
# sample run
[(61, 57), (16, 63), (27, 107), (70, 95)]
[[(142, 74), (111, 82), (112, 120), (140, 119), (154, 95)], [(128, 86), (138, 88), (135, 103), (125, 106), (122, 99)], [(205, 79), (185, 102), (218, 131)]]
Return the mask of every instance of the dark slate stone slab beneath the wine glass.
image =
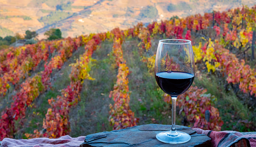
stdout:
[(176, 125), (178, 131), (186, 132), (191, 136), (190, 141), (181, 144), (162, 143), (156, 139), (156, 134), (169, 131), (171, 125), (148, 124), (100, 132), (85, 137), (80, 147), (210, 147), (211, 138), (197, 134), (195, 130)]

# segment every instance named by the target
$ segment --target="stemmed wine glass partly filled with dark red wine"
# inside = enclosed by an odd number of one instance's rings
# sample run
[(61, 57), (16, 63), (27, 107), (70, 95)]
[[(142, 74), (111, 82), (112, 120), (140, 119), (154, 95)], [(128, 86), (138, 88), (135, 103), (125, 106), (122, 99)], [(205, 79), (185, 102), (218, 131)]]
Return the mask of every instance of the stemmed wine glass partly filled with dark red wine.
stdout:
[(185, 143), (190, 135), (176, 131), (176, 99), (188, 90), (195, 78), (195, 60), (191, 41), (185, 39), (160, 40), (156, 52), (155, 78), (158, 86), (172, 97), (172, 129), (158, 133), (164, 143)]

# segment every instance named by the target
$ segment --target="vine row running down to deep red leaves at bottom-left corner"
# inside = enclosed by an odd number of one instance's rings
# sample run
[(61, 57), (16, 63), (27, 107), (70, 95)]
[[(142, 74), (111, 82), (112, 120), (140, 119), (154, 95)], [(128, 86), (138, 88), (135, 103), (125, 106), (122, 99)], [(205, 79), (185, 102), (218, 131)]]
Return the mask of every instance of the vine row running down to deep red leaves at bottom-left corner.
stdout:
[(2, 112), (0, 120), (0, 140), (5, 137), (13, 137), (13, 134), (16, 132), (14, 128), (14, 120), (25, 117), (27, 107), (32, 104), (34, 99), (37, 98), (40, 93), (43, 93), (50, 87), (52, 70), (57, 68), (60, 69), (67, 58), (72, 56), (72, 53), (77, 49), (77, 46), (80, 46), (80, 42), (79, 39), (76, 40), (71, 38), (58, 41), (60, 54), (55, 55), (48, 64), (45, 63), (44, 71), (36, 74), (32, 78), (26, 79), (26, 81), (21, 84), (20, 90), (13, 96), (14, 101), (11, 104), (11, 108), (6, 107)]

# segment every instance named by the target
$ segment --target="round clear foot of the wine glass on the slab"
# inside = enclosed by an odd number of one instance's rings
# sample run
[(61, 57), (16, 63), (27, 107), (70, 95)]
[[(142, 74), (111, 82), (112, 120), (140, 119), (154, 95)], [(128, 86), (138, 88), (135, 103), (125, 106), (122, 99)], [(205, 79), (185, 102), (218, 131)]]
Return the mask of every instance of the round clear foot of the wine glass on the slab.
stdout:
[(178, 144), (186, 143), (190, 140), (190, 135), (184, 132), (177, 131), (176, 133), (171, 133), (170, 131), (160, 132), (156, 135), (156, 138), (164, 143)]

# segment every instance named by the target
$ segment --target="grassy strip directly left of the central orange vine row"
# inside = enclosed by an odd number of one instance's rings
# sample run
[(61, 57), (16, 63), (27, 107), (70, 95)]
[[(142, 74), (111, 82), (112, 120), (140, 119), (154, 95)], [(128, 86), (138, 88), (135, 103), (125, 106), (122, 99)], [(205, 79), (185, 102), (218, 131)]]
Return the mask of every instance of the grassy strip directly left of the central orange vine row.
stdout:
[(90, 75), (95, 80), (85, 80), (81, 92), (81, 102), (70, 112), (71, 136), (88, 135), (96, 132), (111, 131), (108, 123), (109, 91), (113, 89), (117, 71), (112, 64), (114, 60), (108, 53), (112, 50), (111, 42), (102, 43), (101, 48), (93, 53)]

